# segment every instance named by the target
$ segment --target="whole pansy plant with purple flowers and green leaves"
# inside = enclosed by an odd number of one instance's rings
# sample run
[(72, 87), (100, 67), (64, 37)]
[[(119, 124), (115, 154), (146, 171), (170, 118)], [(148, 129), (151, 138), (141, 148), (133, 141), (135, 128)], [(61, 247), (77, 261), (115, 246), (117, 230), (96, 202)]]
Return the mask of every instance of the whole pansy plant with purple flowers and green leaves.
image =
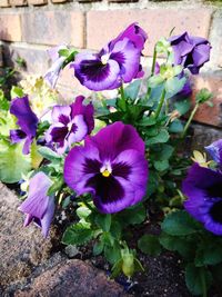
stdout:
[[(144, 30), (132, 23), (98, 52), (67, 46), (51, 49), (48, 85), (54, 88), (62, 69), (70, 67), (95, 96), (79, 95), (69, 105), (54, 102), (47, 117), (38, 117), (29, 96), (18, 88), (10, 106), (13, 125), (7, 133), (1, 130), (0, 141), (22, 146), (31, 160), (31, 168), (20, 175), (26, 179), (19, 208), (24, 226), (33, 222), (47, 237), (50, 226), (58, 224), (56, 214), (71, 211), (74, 222), (69, 221), (62, 242), (78, 247), (92, 242), (93, 254), (103, 254), (111, 265), (112, 277), (122, 271), (130, 278), (143, 267), (132, 245), (134, 234), (128, 231), (132, 226), (138, 230), (161, 225), (160, 236), (143, 234), (138, 248), (152, 256), (162, 249), (179, 253), (186, 263), (189, 289), (204, 295), (212, 278), (208, 265), (222, 263), (221, 248), (212, 248), (221, 244), (222, 235), (222, 145), (208, 147), (218, 166), (199, 160), (183, 186), (191, 160), (181, 146), (198, 108), (212, 98), (203, 89), (193, 106), (190, 100), (190, 76), (209, 61), (211, 46), (188, 32), (161, 38), (149, 71), (141, 59), (147, 39)], [(117, 90), (117, 96), (107, 99), (103, 90)], [(7, 123), (1, 118), (0, 111), (2, 128)], [(0, 160), (0, 178), (1, 168)], [(204, 240), (211, 240), (218, 253), (213, 259), (204, 254), (209, 251)], [(192, 283), (193, 274), (201, 281)]]

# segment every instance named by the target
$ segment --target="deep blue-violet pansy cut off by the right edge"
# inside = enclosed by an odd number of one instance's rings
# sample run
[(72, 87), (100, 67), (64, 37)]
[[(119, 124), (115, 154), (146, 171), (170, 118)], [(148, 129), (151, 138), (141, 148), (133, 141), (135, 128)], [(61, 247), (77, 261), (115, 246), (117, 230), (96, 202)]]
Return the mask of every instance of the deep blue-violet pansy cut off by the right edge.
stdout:
[[(216, 156), (221, 166), (222, 156), (218, 158), (219, 155), (214, 152), (222, 151), (222, 140), (210, 147), (210, 154), (213, 151), (212, 156)], [(194, 164), (183, 181), (183, 192), (188, 197), (184, 201), (186, 211), (201, 221), (206, 230), (222, 235), (222, 171)]]

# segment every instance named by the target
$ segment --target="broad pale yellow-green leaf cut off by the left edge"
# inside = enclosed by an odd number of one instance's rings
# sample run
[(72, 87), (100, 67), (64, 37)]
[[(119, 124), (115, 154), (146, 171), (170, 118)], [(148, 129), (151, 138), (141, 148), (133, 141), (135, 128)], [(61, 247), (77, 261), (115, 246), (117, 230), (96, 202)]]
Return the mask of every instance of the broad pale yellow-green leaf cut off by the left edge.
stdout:
[(31, 170), (29, 155), (22, 154), (23, 143), (11, 145), (0, 141), (0, 180), (13, 184)]

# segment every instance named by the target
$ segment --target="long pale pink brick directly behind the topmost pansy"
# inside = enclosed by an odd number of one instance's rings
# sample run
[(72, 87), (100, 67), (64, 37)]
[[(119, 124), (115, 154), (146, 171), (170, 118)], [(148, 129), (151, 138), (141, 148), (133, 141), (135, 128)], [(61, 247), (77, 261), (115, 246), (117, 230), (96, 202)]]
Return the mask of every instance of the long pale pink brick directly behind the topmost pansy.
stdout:
[(113, 11), (89, 11), (87, 14), (87, 48), (101, 49), (110, 39), (117, 37), (131, 22), (138, 22), (149, 36), (144, 50), (152, 55), (154, 43), (161, 37), (184, 31), (193, 36), (208, 37), (211, 9), (129, 9)]

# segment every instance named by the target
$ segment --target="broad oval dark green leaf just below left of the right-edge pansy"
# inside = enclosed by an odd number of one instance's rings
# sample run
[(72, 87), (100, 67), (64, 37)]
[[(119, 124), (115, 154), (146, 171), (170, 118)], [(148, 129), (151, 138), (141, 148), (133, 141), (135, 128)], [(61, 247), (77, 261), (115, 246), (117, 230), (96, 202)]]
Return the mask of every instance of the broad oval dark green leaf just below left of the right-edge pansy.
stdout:
[(184, 210), (171, 212), (161, 224), (164, 232), (172, 236), (184, 236), (200, 230), (200, 225)]

